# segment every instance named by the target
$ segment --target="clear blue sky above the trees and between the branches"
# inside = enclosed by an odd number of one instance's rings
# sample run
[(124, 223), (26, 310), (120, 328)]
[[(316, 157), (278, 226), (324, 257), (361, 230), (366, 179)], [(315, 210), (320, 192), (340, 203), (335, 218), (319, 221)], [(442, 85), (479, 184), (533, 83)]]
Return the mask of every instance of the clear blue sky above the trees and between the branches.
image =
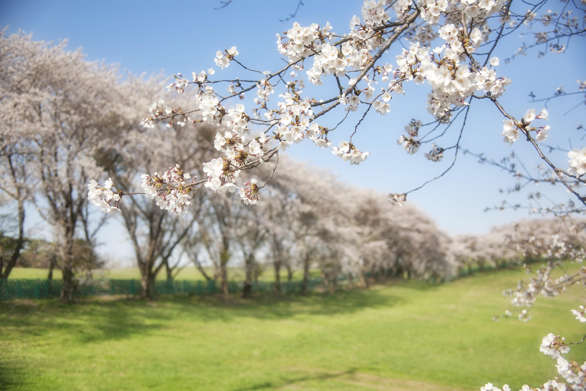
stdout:
[[(0, 1), (0, 26), (9, 25), (9, 33), (18, 29), (32, 32), (35, 40), (68, 39), (69, 48), (82, 47), (88, 60), (118, 63), (121, 69), (135, 74), (163, 72), (171, 76), (181, 72), (189, 75), (192, 71), (214, 66), (216, 50), (233, 45), (239, 49), (241, 62), (255, 69), (275, 70), (282, 64), (276, 50), (275, 33), (287, 31), (294, 21), (301, 25), (313, 22), (325, 25), (329, 21), (335, 32), (347, 32), (349, 19), (355, 14), (360, 15), (362, 1), (305, 0), (304, 3), (294, 19), (281, 22), (280, 19), (287, 18), (294, 11), (297, 0), (233, 0), (226, 8), (217, 10), (214, 7), (220, 3), (216, 0)], [(495, 55), (502, 59), (508, 57), (521, 42), (518, 37), (511, 37)], [(586, 79), (585, 49), (583, 40), (574, 40), (563, 55), (550, 53), (538, 59), (533, 51), (514, 60), (511, 65), (501, 62), (497, 67), (498, 75), (513, 80), (500, 99), (503, 106), (516, 117), (521, 117), (529, 108), (539, 111), (543, 107), (543, 103), (528, 103), (530, 91), (545, 97), (560, 84), (568, 91), (575, 90), (576, 80)], [(398, 53), (400, 46), (391, 49), (389, 62), (393, 62)], [(240, 71), (231, 65), (223, 72), (236, 75)], [(397, 145), (388, 147), (380, 142), (381, 138), (387, 137), (396, 140), (411, 118), (429, 119), (424, 108), (429, 87), (409, 86), (406, 91), (406, 96), (391, 100), (389, 114), (384, 117), (370, 115), (359, 128), (355, 141), (362, 151), (370, 152), (363, 164), (350, 166), (327, 149), (316, 148), (310, 142), (294, 145), (288, 151), (301, 161), (331, 169), (340, 180), (352, 185), (393, 193), (417, 187), (443, 171), (452, 155), (447, 154), (444, 162), (433, 163), (423, 157), (426, 151), (407, 155)], [(564, 115), (576, 103), (577, 98), (561, 98), (548, 104), (548, 124), (551, 126), (548, 144), (568, 148), (569, 137), (580, 142), (581, 135), (575, 127), (577, 123), (586, 122), (584, 106)], [(352, 130), (352, 123), (340, 128), (340, 134), (333, 137), (333, 141), (347, 140)], [(461, 144), (496, 159), (514, 150), (526, 162), (527, 168), (532, 169), (537, 160), (529, 145), (517, 142), (509, 147), (502, 142), (501, 132), (502, 117), (496, 109), (488, 101), (476, 102)], [(567, 161), (565, 154), (553, 158), (562, 163)], [(478, 164), (475, 158), (460, 156), (451, 172), (412, 193), (409, 200), (425, 210), (448, 233), (483, 233), (488, 232), (490, 226), (527, 217), (526, 212), (483, 212), (486, 206), (496, 205), (505, 198), (513, 202), (526, 199), (525, 193), (513, 197), (499, 193), (499, 188), (513, 183), (499, 169)], [(542, 186), (539, 190), (556, 199), (567, 198), (563, 189)], [(113, 239), (120, 237), (121, 227), (115, 222), (110, 226), (103, 234), (103, 242), (110, 243), (112, 250), (124, 257), (131, 256), (120, 239)]]

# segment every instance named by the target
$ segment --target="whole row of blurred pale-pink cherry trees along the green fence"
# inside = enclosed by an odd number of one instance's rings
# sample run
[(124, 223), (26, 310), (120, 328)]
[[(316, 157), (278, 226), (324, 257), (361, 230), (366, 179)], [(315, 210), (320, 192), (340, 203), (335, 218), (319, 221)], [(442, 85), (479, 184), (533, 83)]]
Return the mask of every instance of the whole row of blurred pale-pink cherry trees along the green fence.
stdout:
[[(332, 175), (287, 157), (281, 157), (280, 175), (274, 175), (274, 166), (263, 165), (257, 169), (259, 182), (250, 182), (266, 185), (267, 202), (251, 207), (229, 193), (202, 191), (196, 197), (183, 195), (176, 210), (182, 213), (168, 213), (164, 199), (169, 195), (158, 188), (165, 181), (192, 182), (205, 175), (202, 165), (220, 144), (217, 128), (200, 124), (193, 131), (179, 123), (141, 127), (139, 115), (147, 102), (165, 98), (189, 106), (197, 97), (172, 97), (156, 77), (120, 79), (115, 67), (87, 62), (81, 52), (64, 47), (22, 33), (3, 33), (0, 40), (5, 76), (0, 191), (4, 205), (15, 205), (18, 214), (15, 246), (6, 262), (3, 248), (1, 278), (18, 265), (23, 249), (33, 248), (25, 237), (25, 212), (36, 209), (54, 237), (38, 253), (50, 259), (51, 269), (63, 271), (62, 300), (73, 300), (80, 279), (96, 266), (79, 256), (79, 240), (96, 245), (105, 222), (90, 200), (99, 200), (107, 211), (120, 210), (141, 272), (142, 295), (151, 299), (156, 276), (166, 271), (172, 278), (187, 261), (205, 278), (219, 280), (225, 295), (229, 265), (243, 266), (244, 295), (250, 295), (261, 264), (274, 269), (276, 291), (283, 269), (288, 278), (302, 274), (303, 292), (316, 267), (331, 288), (340, 273), (353, 273), (363, 283), (365, 274), (381, 270), (414, 278), (451, 273), (447, 236), (414, 206), (392, 208), (380, 194), (326, 179)], [(229, 128), (223, 132), (230, 137)], [(106, 173), (120, 189), (142, 183), (151, 193), (121, 199), (110, 179), (104, 186), (90, 179)], [(251, 197), (247, 199), (254, 203)]]

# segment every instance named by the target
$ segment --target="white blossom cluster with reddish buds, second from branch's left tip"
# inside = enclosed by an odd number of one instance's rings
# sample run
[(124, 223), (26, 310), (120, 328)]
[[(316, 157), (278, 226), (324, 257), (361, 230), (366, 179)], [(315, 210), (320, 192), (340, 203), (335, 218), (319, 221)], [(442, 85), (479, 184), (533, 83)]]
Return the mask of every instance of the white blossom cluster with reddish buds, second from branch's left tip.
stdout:
[(145, 196), (154, 199), (161, 209), (179, 215), (191, 203), (195, 178), (191, 179), (189, 173), (183, 172), (179, 165), (169, 168), (162, 175), (155, 172), (153, 175), (142, 174), (141, 178)]

